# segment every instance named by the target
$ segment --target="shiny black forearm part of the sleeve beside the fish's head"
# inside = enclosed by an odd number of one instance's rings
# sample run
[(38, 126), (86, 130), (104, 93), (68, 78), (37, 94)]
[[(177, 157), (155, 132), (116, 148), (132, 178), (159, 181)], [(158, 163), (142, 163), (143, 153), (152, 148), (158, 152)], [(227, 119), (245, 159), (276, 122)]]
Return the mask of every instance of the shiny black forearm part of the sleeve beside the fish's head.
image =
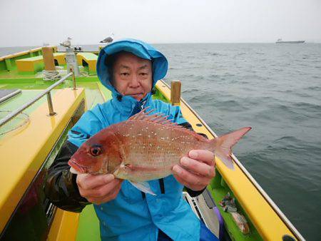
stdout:
[(81, 212), (83, 207), (90, 204), (81, 197), (76, 184), (76, 175), (69, 169), (68, 160), (78, 147), (68, 140), (63, 143), (54, 163), (48, 170), (44, 186), (46, 197), (57, 207), (71, 212)]

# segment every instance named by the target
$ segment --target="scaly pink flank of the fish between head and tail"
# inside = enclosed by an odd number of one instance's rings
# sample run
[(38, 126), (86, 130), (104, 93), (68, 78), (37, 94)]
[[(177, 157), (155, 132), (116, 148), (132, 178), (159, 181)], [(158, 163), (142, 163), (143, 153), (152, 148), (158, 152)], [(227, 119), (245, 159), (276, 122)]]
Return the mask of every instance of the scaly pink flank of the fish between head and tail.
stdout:
[[(189, 135), (186, 135), (185, 129), (172, 125), (128, 120), (116, 128), (129, 134), (120, 137), (123, 145), (121, 148), (125, 153), (125, 167), (116, 171), (118, 178), (138, 181), (148, 179), (151, 173), (153, 179), (170, 175), (173, 165), (179, 164), (180, 158), (188, 155), (189, 150), (201, 148), (201, 145), (197, 145), (199, 140), (193, 137), (194, 133), (188, 131)], [(190, 145), (182, 145), (187, 139), (190, 140)], [(203, 138), (203, 143), (208, 143), (208, 140)], [(128, 164), (131, 168), (128, 168)], [(149, 170), (149, 173), (141, 170)]]

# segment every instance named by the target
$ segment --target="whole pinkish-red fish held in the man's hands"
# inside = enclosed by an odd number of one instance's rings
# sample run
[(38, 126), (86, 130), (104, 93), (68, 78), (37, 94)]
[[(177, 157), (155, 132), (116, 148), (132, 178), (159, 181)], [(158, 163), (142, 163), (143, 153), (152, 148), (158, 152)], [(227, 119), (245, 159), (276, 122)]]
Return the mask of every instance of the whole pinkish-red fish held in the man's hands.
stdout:
[(164, 178), (190, 150), (210, 150), (233, 169), (231, 147), (251, 128), (208, 140), (159, 115), (141, 111), (89, 138), (71, 157), (73, 173), (112, 173), (135, 183)]

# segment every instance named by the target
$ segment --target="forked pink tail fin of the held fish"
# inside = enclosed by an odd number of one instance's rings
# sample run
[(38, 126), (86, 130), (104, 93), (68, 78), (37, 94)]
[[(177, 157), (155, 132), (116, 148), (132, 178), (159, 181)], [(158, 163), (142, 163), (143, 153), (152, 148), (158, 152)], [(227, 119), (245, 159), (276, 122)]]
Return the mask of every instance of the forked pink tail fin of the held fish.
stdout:
[(210, 140), (214, 148), (214, 155), (220, 158), (228, 168), (234, 170), (233, 160), (231, 158), (233, 145), (238, 143), (238, 140), (240, 140), (240, 138), (242, 138), (250, 129), (252, 128), (240, 128), (239, 130)]

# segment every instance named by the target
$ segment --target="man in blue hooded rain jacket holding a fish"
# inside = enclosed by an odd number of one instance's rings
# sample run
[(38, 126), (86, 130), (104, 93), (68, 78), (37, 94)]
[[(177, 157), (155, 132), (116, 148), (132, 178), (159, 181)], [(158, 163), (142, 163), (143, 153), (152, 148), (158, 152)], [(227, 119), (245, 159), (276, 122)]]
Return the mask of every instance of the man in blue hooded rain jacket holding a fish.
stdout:
[(190, 195), (199, 195), (215, 176), (214, 155), (207, 150), (191, 150), (173, 167), (173, 175), (149, 181), (156, 196), (111, 174), (69, 172), (67, 161), (83, 142), (143, 108), (155, 109), (188, 127), (178, 106), (151, 98), (152, 88), (167, 69), (165, 56), (142, 41), (126, 39), (103, 48), (97, 75), (113, 98), (81, 116), (49, 169), (45, 191), (51, 202), (73, 212), (93, 203), (102, 240), (200, 240), (202, 232), (211, 235), (182, 198), (183, 186)]

